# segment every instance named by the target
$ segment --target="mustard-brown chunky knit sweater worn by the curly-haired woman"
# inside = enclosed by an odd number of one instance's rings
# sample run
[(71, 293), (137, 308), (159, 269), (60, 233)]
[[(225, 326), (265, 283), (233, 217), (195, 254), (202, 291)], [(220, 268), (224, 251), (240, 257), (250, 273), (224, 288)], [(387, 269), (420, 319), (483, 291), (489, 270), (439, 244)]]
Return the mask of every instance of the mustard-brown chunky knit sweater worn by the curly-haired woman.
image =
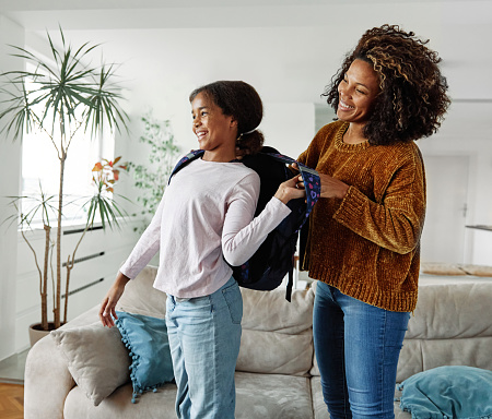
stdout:
[(343, 200), (315, 205), (302, 267), (368, 304), (413, 311), (425, 216), (422, 155), (414, 142), (345, 144), (348, 127), (325, 125), (298, 158), (350, 185)]

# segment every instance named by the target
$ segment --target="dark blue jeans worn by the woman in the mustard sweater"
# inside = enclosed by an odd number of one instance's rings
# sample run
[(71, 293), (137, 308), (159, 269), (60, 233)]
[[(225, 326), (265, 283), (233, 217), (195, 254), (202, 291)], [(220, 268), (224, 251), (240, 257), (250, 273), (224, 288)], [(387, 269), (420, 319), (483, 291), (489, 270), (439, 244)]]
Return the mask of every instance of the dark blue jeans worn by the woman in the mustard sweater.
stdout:
[(395, 417), (397, 364), (409, 318), (318, 282), (314, 345), (331, 419)]

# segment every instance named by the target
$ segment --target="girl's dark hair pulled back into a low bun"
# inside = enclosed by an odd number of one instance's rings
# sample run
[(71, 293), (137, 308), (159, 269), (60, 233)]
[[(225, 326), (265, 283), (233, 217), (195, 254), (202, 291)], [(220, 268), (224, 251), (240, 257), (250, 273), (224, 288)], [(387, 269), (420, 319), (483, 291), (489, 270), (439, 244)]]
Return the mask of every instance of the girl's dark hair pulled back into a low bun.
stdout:
[(192, 101), (199, 93), (212, 99), (224, 115), (237, 120), (239, 148), (247, 149), (248, 154), (255, 154), (261, 149), (263, 134), (256, 128), (263, 118), (263, 104), (255, 87), (241, 81), (219, 81), (192, 91), (189, 101)]

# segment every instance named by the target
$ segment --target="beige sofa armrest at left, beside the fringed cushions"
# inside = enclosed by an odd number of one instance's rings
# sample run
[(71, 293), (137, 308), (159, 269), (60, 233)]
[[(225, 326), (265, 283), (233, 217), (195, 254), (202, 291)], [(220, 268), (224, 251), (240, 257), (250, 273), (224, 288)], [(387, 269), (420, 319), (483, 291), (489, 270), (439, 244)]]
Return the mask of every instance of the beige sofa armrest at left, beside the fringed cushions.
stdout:
[(75, 382), (51, 336), (31, 348), (24, 380), (24, 419), (62, 419), (65, 399)]

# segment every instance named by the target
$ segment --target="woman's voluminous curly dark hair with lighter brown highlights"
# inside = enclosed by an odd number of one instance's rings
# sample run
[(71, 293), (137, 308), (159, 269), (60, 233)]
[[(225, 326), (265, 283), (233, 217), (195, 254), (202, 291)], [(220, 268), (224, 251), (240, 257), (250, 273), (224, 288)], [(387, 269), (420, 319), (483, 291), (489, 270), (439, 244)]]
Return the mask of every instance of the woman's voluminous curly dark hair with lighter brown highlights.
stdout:
[(450, 100), (446, 79), (440, 71), (441, 58), (429, 49), (427, 40), (397, 25), (368, 29), (349, 52), (323, 96), (337, 110), (338, 85), (350, 64), (368, 62), (379, 76), (380, 93), (364, 125), (371, 144), (393, 144), (429, 136), (437, 131)]

